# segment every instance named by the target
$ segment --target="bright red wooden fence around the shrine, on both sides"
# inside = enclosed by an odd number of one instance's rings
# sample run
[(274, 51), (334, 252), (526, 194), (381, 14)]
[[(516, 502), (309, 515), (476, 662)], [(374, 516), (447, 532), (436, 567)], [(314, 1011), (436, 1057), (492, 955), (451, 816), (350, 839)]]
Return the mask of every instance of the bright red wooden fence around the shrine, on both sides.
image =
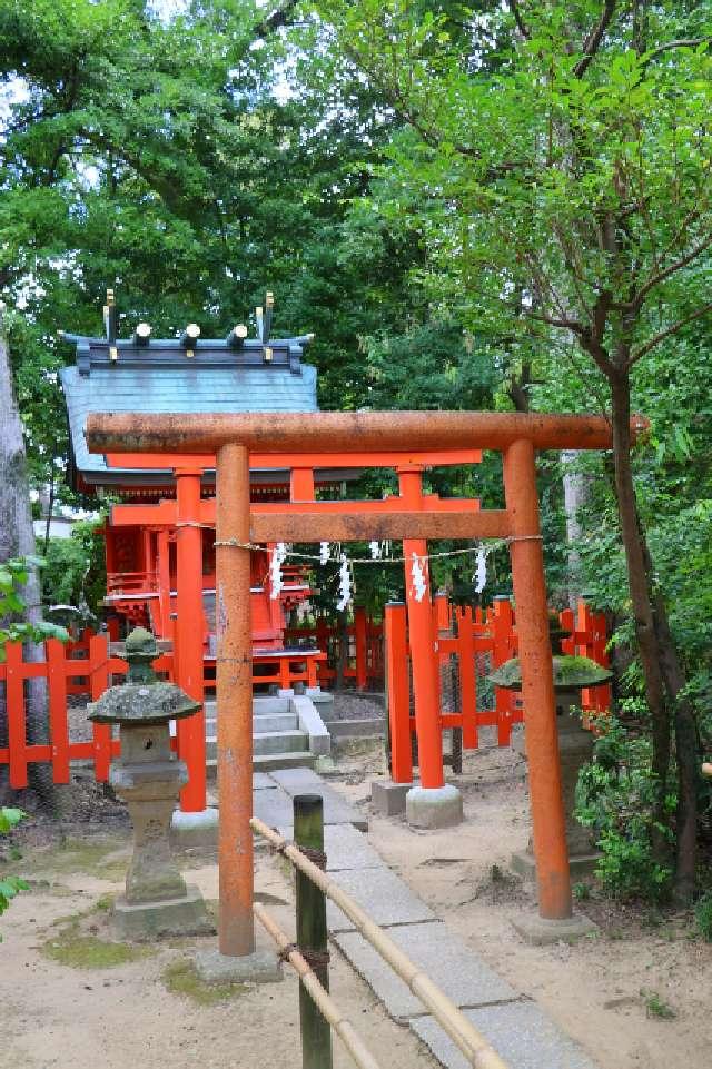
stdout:
[[(474, 749), (478, 730), (485, 725), (497, 729), (498, 745), (507, 745), (512, 724), (522, 721), (518, 695), (495, 689), (492, 707), (477, 707), (477, 693), (482, 691), (484, 676), (516, 653), (516, 626), (508, 598), (496, 600), (486, 610), (452, 606), (446, 598), (437, 596), (434, 604), (435, 626), (438, 633), (438, 659), (441, 674), (451, 672), (457, 676), (457, 704), (459, 707), (443, 709), (443, 727), (462, 727), (463, 745)], [(581, 603), (576, 613), (566, 610), (561, 614), (562, 624), (571, 631), (564, 640), (565, 652), (590, 656), (607, 666), (605, 652), (605, 618)], [(387, 670), (384, 667), (384, 632)], [(291, 687), (303, 682), (307, 686), (317, 683), (329, 685), (336, 679), (339, 633), (326, 618), (319, 618), (315, 627), (294, 628), (286, 633), (288, 641), (313, 640), (320, 652), (294, 651), (289, 654), (256, 656), (253, 682), (256, 686), (276, 683)], [(356, 610), (354, 624), (347, 628), (349, 647), (345, 677), (354, 680), (358, 689), (379, 685), (386, 679), (393, 759), (403, 773), (411, 770), (411, 733), (414, 731), (412, 694), (408, 670), (407, 621), (404, 605), (389, 605), (384, 624), (375, 624), (363, 610)], [(72, 760), (93, 763), (96, 778), (106, 782), (112, 756), (119, 752), (118, 739), (111, 727), (92, 725), (91, 739), (72, 742), (69, 732), (67, 700), (69, 695), (86, 695), (96, 701), (110, 685), (111, 676), (122, 675), (126, 663), (111, 656), (109, 640), (90, 631), (62, 645), (57, 640), (46, 643), (46, 659), (26, 662), (19, 643), (6, 645), (6, 661), (0, 663), (0, 686), (4, 683), (8, 711), (8, 745), (0, 748), (0, 765), (8, 764), (10, 784), (23, 788), (28, 783), (28, 765), (38, 761), (52, 764), (56, 783), (69, 782)], [(214, 685), (210, 677), (215, 661), (206, 664), (206, 687)], [(172, 674), (171, 653), (162, 654), (157, 669)], [(47, 743), (30, 745), (27, 741), (27, 681), (44, 679), (48, 691)], [(606, 685), (584, 690), (582, 706), (585, 712), (609, 707), (610, 687)], [(452, 705), (452, 702), (449, 703)], [(408, 771), (409, 770), (409, 771)], [(394, 765), (395, 778), (395, 765)]]

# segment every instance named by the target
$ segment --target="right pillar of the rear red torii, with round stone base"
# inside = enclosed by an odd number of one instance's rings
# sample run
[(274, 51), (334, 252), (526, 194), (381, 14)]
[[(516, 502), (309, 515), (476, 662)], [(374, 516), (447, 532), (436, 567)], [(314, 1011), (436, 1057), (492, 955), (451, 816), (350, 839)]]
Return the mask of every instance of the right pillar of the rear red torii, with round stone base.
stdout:
[[(423, 508), (423, 466), (398, 468), (398, 485), (404, 504)], [(418, 601), (413, 582), (413, 554), (417, 554), (425, 578), (425, 593)], [(437, 635), (424, 538), (404, 538), (405, 590), (408, 610), (411, 672), (415, 696), (415, 727), (418, 739), (421, 784), (406, 795), (408, 823), (419, 828), (444, 828), (462, 820), (462, 795), (445, 784), (443, 774), (443, 729), (441, 722), (439, 664)]]

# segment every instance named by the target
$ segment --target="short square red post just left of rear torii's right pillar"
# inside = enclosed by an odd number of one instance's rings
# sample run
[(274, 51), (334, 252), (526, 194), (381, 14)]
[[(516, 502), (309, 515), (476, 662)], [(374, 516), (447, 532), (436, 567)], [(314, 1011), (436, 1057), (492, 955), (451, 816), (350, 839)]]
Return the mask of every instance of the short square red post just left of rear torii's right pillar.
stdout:
[(386, 697), (390, 736), (390, 778), (394, 783), (412, 783), (411, 693), (406, 612), (403, 602), (388, 602), (386, 605), (384, 631), (386, 636)]

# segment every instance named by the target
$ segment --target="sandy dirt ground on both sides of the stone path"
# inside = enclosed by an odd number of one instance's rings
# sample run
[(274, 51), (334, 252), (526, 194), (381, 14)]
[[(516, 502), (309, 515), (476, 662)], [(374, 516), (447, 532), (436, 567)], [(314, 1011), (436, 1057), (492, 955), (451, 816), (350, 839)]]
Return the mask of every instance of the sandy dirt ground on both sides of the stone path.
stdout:
[[(352, 743), (337, 753), (330, 784), (368, 811), (379, 748)], [(712, 946), (693, 938), (689, 914), (605, 905), (595, 891), (581, 908), (600, 933), (574, 947), (527, 947), (510, 918), (533, 908), (531, 889), (508, 875), (528, 838), (524, 764), (511, 750), (466, 754), (456, 782), (465, 822), (414, 831), (398, 818), (370, 815), (369, 841), (463, 941), (513, 987), (536, 999), (601, 1069), (702, 1069), (712, 1043)], [(298, 1067), (297, 982), (226, 989), (196, 982), (190, 956), (211, 937), (149, 947), (112, 941), (111, 895), (121, 888), (128, 824), (121, 806), (78, 783), (58, 827), (31, 820), (22, 853), (0, 863), (32, 887), (0, 920), (0, 1069), (271, 1069)], [(182, 858), (189, 882), (217, 899), (214, 859)], [(284, 868), (259, 853), (258, 897), (294, 932)], [(266, 937), (258, 933), (261, 944)], [(332, 990), (388, 1069), (435, 1067), (407, 1029), (390, 1021), (370, 989), (333, 950)], [(210, 1000), (210, 1001), (206, 1001)], [(661, 1013), (674, 1016), (660, 1016)], [(334, 1041), (335, 1066), (350, 1065)], [(547, 1067), (542, 1067), (547, 1069)]]

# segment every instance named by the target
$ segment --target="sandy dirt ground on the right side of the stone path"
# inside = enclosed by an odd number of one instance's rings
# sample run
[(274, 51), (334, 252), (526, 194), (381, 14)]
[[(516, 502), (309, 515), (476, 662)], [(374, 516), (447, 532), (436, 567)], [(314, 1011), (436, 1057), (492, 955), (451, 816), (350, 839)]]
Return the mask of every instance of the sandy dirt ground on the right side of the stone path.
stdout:
[[(483, 732), (483, 735), (486, 734)], [(525, 763), (496, 746), (465, 754), (453, 778), (464, 795), (456, 829), (415, 831), (372, 815), (368, 837), (398, 875), (522, 993), (535, 999), (601, 1069), (703, 1069), (712, 1048), (712, 944), (689, 913), (577, 903), (600, 926), (573, 947), (528, 947), (510, 918), (534, 908), (533, 888), (508, 874), (528, 840)], [(374, 750), (342, 756), (329, 782), (367, 805)], [(656, 1012), (657, 1011), (657, 1012)], [(673, 1016), (659, 1016), (670, 1012)], [(542, 1067), (546, 1069), (546, 1067)]]

